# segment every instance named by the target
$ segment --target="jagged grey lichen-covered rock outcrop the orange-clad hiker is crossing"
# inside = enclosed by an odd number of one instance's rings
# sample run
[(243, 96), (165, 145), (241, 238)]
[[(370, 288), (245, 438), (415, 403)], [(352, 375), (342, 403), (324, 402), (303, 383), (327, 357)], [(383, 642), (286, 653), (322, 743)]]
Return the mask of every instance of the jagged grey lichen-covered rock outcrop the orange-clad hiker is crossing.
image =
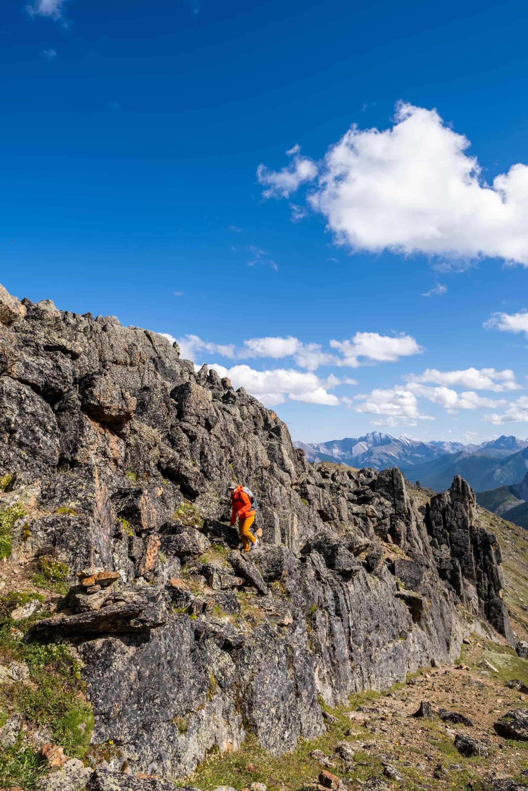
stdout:
[[(6, 588), (4, 683), (35, 686), (17, 673), (50, 646), (74, 663), (85, 752), (57, 788), (165, 789), (249, 737), (283, 755), (471, 632), (515, 642), (461, 477), (424, 498), (397, 468), (309, 464), (275, 412), (115, 316), (2, 289), (0, 322), (0, 541), (29, 586)], [(249, 557), (230, 479), (258, 502)]]

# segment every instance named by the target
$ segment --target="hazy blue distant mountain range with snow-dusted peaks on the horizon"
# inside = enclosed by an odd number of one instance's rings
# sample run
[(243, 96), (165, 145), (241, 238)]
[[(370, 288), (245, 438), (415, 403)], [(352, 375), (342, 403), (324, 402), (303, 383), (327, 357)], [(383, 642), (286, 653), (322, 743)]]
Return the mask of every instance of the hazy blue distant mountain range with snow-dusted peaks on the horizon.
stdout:
[[(528, 471), (528, 441), (502, 436), (481, 445), (462, 442), (423, 442), (373, 431), (321, 443), (295, 442), (309, 461), (332, 461), (351, 467), (399, 467), (406, 478), (443, 491), (462, 475), (474, 490), (513, 486)], [(527, 495), (528, 496), (528, 495)]]

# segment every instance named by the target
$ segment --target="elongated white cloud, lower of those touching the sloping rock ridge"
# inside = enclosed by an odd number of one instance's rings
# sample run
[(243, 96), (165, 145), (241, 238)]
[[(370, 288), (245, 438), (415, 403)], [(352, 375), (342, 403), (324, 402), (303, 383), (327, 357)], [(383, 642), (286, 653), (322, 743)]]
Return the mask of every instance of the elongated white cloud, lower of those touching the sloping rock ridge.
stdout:
[(221, 377), (229, 377), (235, 389), (245, 388), (267, 407), (285, 401), (302, 401), (303, 403), (324, 404), (337, 407), (340, 403), (336, 395), (328, 389), (339, 384), (336, 377), (321, 380), (314, 373), (305, 373), (293, 369), (275, 369), (272, 371), (256, 371), (249, 365), (234, 365), (226, 368), (213, 363)]

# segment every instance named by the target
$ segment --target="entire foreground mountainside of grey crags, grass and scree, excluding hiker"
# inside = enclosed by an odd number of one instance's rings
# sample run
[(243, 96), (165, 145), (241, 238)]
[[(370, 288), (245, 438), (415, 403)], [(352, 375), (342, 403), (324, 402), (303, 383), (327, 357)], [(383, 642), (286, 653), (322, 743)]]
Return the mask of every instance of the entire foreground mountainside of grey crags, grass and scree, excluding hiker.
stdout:
[(521, 528), (459, 475), (308, 463), (115, 316), (0, 288), (0, 322), (6, 789), (524, 787)]

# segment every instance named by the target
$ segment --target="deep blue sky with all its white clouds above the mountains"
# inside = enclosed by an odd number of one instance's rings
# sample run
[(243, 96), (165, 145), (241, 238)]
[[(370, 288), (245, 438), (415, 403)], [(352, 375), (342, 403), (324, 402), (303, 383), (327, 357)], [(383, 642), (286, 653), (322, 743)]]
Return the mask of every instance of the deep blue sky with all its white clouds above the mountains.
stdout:
[(180, 339), (303, 441), (526, 437), (527, 17), (9, 0), (0, 282)]

